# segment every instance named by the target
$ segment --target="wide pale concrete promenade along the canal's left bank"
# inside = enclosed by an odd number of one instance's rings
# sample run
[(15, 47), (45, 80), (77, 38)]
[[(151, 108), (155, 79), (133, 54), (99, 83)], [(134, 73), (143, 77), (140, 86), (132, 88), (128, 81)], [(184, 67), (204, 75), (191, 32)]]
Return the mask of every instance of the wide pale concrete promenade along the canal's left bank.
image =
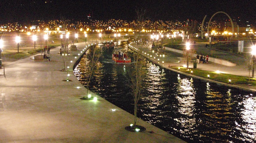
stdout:
[[(76, 45), (85, 47), (83, 43)], [(67, 57), (69, 67), (73, 67), (78, 53)], [(86, 88), (72, 68), (68, 77), (72, 82), (63, 81), (68, 73), (60, 71), (63, 59), (59, 48), (50, 51), (51, 61), (34, 61), (31, 57), (3, 61), (5, 75), (0, 69), (0, 143), (184, 142), (140, 119), (138, 125), (146, 131), (126, 131), (133, 115), (94, 94), (97, 101), (80, 100)]]

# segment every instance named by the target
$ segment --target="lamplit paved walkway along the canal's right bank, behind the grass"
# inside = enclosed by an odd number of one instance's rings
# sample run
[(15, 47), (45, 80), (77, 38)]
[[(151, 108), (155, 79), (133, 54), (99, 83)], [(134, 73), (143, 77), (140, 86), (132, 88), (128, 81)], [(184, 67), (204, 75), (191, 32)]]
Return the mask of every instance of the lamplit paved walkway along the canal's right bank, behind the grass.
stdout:
[[(132, 43), (131, 46), (138, 48), (138, 45)], [(203, 52), (203, 53), (208, 53), (209, 49), (205, 48), (205, 44), (197, 44), (195, 45), (195, 49), (196, 51), (198, 51), (198, 53)], [(162, 67), (168, 68), (169, 66), (185, 66), (187, 67), (187, 61), (180, 61), (181, 57), (183, 57), (182, 54), (180, 53), (176, 53), (176, 52), (171, 52), (171, 51), (167, 51), (163, 49), (162, 51), (159, 51), (159, 54), (157, 54), (155, 51), (153, 53), (153, 51), (151, 50), (151, 45), (149, 45), (146, 48), (140, 48), (144, 53), (146, 52), (146, 55), (148, 55), (148, 59), (150, 59), (151, 61), (154, 61), (155, 63), (159, 63), (159, 65), (161, 65)], [(164, 53), (164, 57), (162, 56), (162, 54)], [(211, 53), (214, 53), (215, 55), (219, 55), (220, 57), (224, 58), (223, 56), (226, 56), (225, 58), (229, 58), (233, 61), (237, 61), (237, 65), (236, 66), (226, 66), (226, 65), (221, 65), (221, 64), (217, 64), (217, 63), (212, 63), (209, 62), (204, 63), (204, 64), (197, 64), (197, 69), (202, 69), (205, 71), (219, 71), (221, 73), (225, 73), (225, 74), (232, 74), (232, 75), (239, 75), (239, 76), (249, 76), (249, 71), (247, 70), (246, 67), (246, 59), (244, 57), (241, 56), (236, 56), (236, 55), (231, 55), (229, 53), (226, 52), (221, 52), (221, 51), (215, 51), (213, 49), (211, 49)], [(150, 55), (152, 57), (150, 57)], [(161, 55), (161, 56), (160, 56)], [(155, 59), (154, 59), (155, 57)], [(209, 57), (210, 59), (211, 57)], [(159, 59), (159, 61), (158, 61)], [(196, 59), (195, 59), (196, 60)], [(164, 61), (163, 64), (162, 61)], [(180, 61), (180, 62), (178, 62)], [(193, 63), (189, 63), (189, 68), (193, 68)], [(169, 68), (170, 69), (170, 68)], [(189, 76), (193, 76), (193, 75), (189, 75)], [(250, 72), (250, 76), (252, 76), (252, 71)], [(255, 75), (256, 76), (256, 75)], [(203, 79), (203, 78), (201, 78)], [(205, 80), (209, 80), (207, 79), (207, 77), (205, 78)], [(212, 82), (214, 82), (213, 80), (210, 80)], [(219, 83), (219, 82), (218, 82)], [(244, 88), (245, 90), (249, 90), (249, 91), (256, 91), (256, 87), (255, 86), (249, 86), (249, 85), (231, 85), (231, 84), (226, 84), (232, 87), (238, 87), (238, 88)]]

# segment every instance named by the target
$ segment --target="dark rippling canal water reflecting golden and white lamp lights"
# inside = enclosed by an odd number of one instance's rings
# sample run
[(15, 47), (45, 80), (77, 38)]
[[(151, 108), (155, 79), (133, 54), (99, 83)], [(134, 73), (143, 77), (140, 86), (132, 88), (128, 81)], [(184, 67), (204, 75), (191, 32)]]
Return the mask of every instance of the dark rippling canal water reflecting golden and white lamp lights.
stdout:
[[(132, 57), (127, 43), (119, 43), (114, 49), (120, 47)], [(85, 87), (92, 57), (89, 51), (74, 68)], [(113, 63), (112, 53), (113, 49), (107, 49), (96, 64), (90, 90), (133, 114), (133, 97), (127, 81), (132, 64)], [(144, 61), (144, 72), (147, 74), (138, 106), (140, 119), (187, 142), (255, 142), (254, 92), (191, 78), (148, 60)]]

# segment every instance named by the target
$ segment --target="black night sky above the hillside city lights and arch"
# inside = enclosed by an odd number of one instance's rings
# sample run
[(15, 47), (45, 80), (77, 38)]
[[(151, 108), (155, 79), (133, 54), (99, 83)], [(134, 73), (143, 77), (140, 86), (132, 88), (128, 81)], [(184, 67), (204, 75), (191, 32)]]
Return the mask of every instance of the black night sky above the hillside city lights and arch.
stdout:
[[(255, 0), (1, 0), (0, 23), (31, 20), (84, 20), (93, 13), (97, 20), (135, 20), (136, 9), (146, 9), (149, 20), (202, 21), (218, 12), (228, 13), (232, 19), (255, 24)], [(224, 14), (216, 19), (228, 19)]]

